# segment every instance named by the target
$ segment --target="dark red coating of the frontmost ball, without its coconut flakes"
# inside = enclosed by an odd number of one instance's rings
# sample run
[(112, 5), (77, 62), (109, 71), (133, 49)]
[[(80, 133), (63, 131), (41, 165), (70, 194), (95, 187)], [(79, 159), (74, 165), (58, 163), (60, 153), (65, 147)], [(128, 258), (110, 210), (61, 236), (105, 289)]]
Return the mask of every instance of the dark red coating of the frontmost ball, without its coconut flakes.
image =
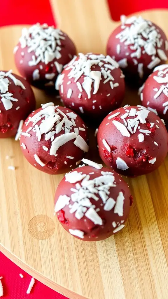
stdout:
[[(74, 171), (82, 172), (85, 174), (93, 173), (90, 174), (90, 179), (94, 179), (96, 177), (101, 176), (102, 171), (113, 173), (115, 177), (116, 187), (111, 187), (109, 189), (109, 197), (112, 197), (116, 201), (119, 192), (123, 192), (125, 198), (123, 204), (123, 216), (119, 216), (117, 213), (114, 213), (114, 208), (109, 211), (104, 210), (104, 204), (102, 202), (102, 199), (98, 194), (96, 194), (96, 196), (99, 197), (97, 201), (93, 198), (89, 199), (92, 205), (95, 205), (95, 209), (100, 209), (100, 211), (98, 211), (97, 213), (103, 219), (103, 225), (95, 225), (94, 222), (88, 219), (85, 215), (81, 219), (77, 219), (75, 217), (75, 213), (70, 213), (70, 208), (68, 207), (68, 205), (66, 205), (65, 208), (63, 208), (62, 210), (56, 212), (56, 216), (58, 217), (59, 222), (67, 232), (69, 232), (69, 229), (77, 229), (83, 231), (84, 238), (82, 238), (82, 240), (84, 241), (99, 241), (112, 236), (113, 231), (115, 229), (112, 225), (112, 222), (116, 222), (116, 227), (118, 227), (120, 223), (125, 223), (129, 215), (130, 206), (132, 205), (133, 198), (131, 196), (128, 184), (120, 177), (120, 175), (113, 172), (112, 170), (109, 170), (109, 168), (106, 167), (103, 167), (102, 169), (98, 170), (91, 166), (83, 166), (73, 170), (73, 172)], [(78, 181), (78, 183), (81, 183), (81, 181)], [(60, 195), (65, 194), (70, 197), (73, 193), (71, 191), (71, 188), (76, 188), (75, 184), (76, 183), (69, 183), (65, 180), (64, 177), (56, 189), (55, 204)], [(70, 201), (70, 204), (73, 204), (72, 200)], [(77, 238), (81, 240), (81, 238)]]

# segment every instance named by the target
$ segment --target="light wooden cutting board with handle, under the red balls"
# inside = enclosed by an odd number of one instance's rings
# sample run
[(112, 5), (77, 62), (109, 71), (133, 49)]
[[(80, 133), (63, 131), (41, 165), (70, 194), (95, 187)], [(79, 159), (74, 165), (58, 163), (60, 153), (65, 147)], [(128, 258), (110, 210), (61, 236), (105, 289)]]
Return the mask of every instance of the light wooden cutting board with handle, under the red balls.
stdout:
[[(54, 16), (78, 51), (105, 53), (110, 20), (105, 0), (52, 0)], [(168, 32), (168, 11), (142, 13)], [(0, 29), (0, 69), (13, 69), (13, 47), (22, 26)], [(37, 106), (55, 100), (34, 89)], [(138, 103), (127, 90), (124, 103)], [(94, 142), (92, 142), (94, 143)], [(9, 155), (10, 159), (5, 159)], [(94, 154), (92, 154), (94, 157)], [(16, 170), (8, 170), (9, 165)], [(168, 298), (168, 158), (155, 172), (127, 179), (134, 205), (123, 231), (100, 242), (83, 242), (54, 216), (54, 192), (63, 175), (32, 167), (19, 142), (0, 140), (1, 251), (35, 278), (69, 298)], [(13, 278), (17, 279), (17, 278)]]

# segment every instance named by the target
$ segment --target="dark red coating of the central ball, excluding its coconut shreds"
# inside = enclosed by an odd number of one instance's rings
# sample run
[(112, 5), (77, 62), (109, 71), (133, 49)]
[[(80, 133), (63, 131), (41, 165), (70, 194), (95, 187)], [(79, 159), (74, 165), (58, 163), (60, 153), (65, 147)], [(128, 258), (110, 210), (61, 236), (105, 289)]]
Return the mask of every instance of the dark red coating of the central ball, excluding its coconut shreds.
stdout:
[[(79, 59), (79, 56), (76, 60)], [(75, 61), (76, 61), (75, 60)], [(104, 62), (105, 64), (105, 62)], [(104, 65), (103, 65), (104, 67)], [(94, 65), (91, 67), (91, 71), (100, 71), (101, 68), (99, 65)], [(63, 103), (66, 107), (71, 108), (76, 113), (81, 115), (84, 118), (94, 118), (97, 120), (103, 119), (111, 110), (116, 109), (120, 106), (123, 101), (123, 97), (125, 94), (125, 82), (122, 75), (122, 71), (120, 68), (115, 68), (111, 70), (111, 75), (114, 77), (115, 81), (119, 85), (113, 89), (111, 89), (109, 81), (104, 84), (103, 78), (100, 80), (100, 87), (96, 94), (93, 94), (94, 84), (92, 83), (91, 88), (91, 98), (88, 98), (86, 91), (83, 89), (81, 92), (81, 97), (79, 98), (80, 91), (77, 87), (77, 83), (74, 82), (74, 78), (69, 79), (68, 74), (70, 70), (64, 69), (62, 74), (64, 74), (63, 78), (63, 92), (61, 86), (59, 87), (59, 94), (63, 100)], [(77, 82), (81, 85), (84, 81), (85, 75), (82, 75)], [(69, 84), (69, 82), (71, 82)], [(68, 83), (68, 84), (67, 84)], [(67, 97), (68, 90), (72, 89), (72, 95), (70, 98)], [(80, 107), (83, 108), (83, 112), (81, 112)]]

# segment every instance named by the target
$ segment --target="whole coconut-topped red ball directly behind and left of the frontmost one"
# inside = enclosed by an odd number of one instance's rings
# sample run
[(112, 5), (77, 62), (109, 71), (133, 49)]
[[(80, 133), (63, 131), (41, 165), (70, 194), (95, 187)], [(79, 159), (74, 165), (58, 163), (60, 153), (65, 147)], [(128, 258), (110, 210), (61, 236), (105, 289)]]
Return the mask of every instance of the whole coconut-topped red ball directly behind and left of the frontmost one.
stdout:
[(39, 170), (57, 174), (74, 168), (88, 152), (87, 129), (72, 110), (42, 105), (26, 119), (20, 136), (25, 158)]

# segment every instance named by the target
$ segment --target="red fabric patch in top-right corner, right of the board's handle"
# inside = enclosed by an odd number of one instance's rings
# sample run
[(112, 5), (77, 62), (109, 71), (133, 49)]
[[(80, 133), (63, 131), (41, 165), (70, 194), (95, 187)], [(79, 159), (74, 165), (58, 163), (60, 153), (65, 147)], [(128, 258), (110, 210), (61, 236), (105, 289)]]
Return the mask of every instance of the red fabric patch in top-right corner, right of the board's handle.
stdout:
[[(138, 11), (147, 9), (157, 9), (157, 8), (168, 8), (167, 0), (107, 0), (109, 4), (109, 9), (111, 17), (114, 21), (120, 20), (120, 15), (126, 15), (136, 13)], [(159, 24), (158, 24), (159, 25)]]

